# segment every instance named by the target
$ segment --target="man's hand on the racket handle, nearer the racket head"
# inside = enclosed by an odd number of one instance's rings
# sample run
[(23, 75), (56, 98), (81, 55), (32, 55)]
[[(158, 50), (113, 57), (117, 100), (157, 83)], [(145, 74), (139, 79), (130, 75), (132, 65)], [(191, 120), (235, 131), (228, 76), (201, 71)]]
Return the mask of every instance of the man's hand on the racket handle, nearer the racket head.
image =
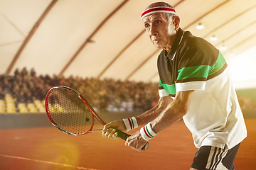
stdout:
[(103, 137), (110, 137), (112, 139), (117, 139), (117, 132), (116, 130), (126, 131), (126, 127), (124, 125), (123, 120), (115, 120), (113, 122), (107, 123), (103, 130), (102, 130), (102, 136)]

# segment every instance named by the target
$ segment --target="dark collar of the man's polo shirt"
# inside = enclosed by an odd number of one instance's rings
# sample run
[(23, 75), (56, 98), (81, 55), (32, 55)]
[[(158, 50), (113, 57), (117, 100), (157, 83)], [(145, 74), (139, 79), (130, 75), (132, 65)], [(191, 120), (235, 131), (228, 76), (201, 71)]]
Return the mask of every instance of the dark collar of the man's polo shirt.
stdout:
[(170, 60), (174, 60), (174, 57), (176, 55), (176, 51), (178, 49), (178, 45), (181, 43), (181, 40), (183, 38), (183, 33), (184, 33), (184, 31), (181, 28), (178, 28), (178, 33), (176, 35), (176, 38), (174, 40), (174, 45), (171, 47), (170, 52), (167, 53), (167, 51), (164, 50), (164, 55), (166, 57), (168, 57)]

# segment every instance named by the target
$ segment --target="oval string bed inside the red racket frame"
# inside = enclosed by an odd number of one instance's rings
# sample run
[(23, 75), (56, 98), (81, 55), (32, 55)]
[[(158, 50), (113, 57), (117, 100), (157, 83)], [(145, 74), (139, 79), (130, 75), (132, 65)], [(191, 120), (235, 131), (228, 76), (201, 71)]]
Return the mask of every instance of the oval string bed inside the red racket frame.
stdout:
[(68, 89), (53, 89), (49, 95), (50, 115), (60, 128), (74, 134), (91, 130), (94, 123), (85, 103)]

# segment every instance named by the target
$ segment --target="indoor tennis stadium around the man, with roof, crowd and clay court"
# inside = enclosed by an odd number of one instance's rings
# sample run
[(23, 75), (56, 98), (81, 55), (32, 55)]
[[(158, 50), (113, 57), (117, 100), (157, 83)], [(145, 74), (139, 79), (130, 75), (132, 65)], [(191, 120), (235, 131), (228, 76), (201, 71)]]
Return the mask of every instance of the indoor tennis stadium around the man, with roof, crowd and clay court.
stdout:
[[(100, 132), (66, 135), (46, 114), (46, 94), (54, 86), (79, 91), (106, 123), (157, 105), (162, 49), (152, 45), (140, 18), (153, 2), (0, 1), (0, 169), (190, 168), (197, 149), (182, 119), (138, 154)], [(253, 169), (256, 1), (166, 2), (181, 18), (180, 28), (225, 57), (247, 127), (235, 169)], [(94, 128), (102, 128), (99, 121)]]

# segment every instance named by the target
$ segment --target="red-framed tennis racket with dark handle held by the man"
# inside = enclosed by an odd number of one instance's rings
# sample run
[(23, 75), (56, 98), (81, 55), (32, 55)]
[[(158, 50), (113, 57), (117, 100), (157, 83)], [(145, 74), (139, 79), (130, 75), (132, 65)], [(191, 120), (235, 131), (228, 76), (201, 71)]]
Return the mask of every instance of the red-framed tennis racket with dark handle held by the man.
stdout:
[[(59, 130), (69, 135), (85, 135), (102, 130), (92, 130), (97, 118), (102, 125), (106, 123), (100, 118), (90, 103), (78, 91), (67, 86), (55, 86), (46, 95), (46, 113), (50, 122)], [(130, 135), (116, 130), (117, 137), (127, 140)], [(142, 150), (149, 147), (147, 142)]]

